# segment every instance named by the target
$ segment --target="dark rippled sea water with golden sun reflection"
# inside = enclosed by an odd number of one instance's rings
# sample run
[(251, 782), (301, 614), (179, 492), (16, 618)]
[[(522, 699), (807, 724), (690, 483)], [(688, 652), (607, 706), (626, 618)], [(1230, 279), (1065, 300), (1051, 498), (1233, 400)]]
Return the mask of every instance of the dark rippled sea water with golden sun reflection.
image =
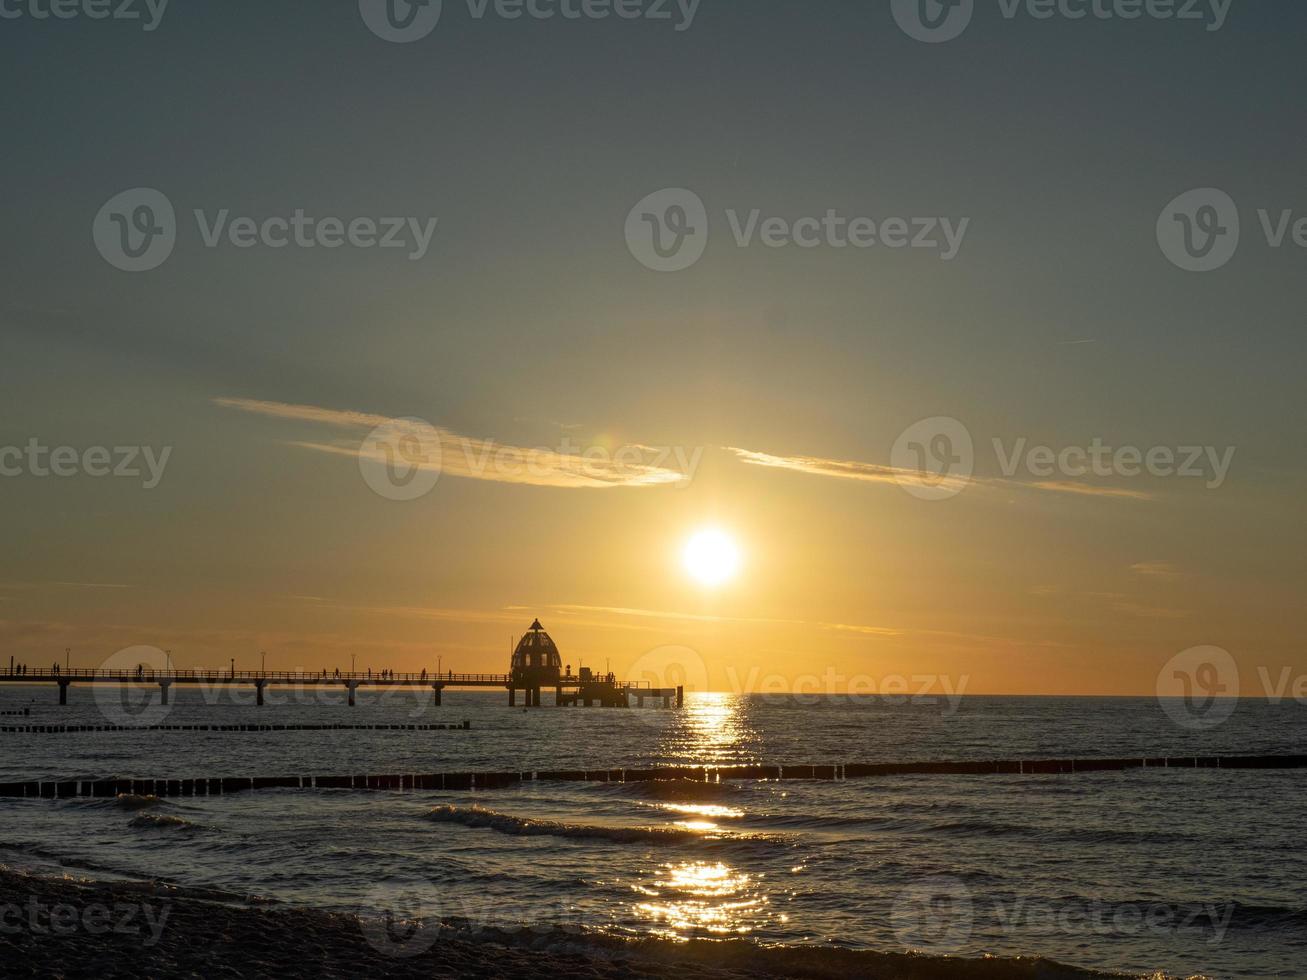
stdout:
[[(339, 702), (339, 694), (332, 699)], [(85, 689), (0, 689), (103, 724)], [(0, 734), (0, 781), (689, 763), (1307, 751), (1307, 710), (1209, 732), (1153, 700), (689, 695), (682, 711), (510, 710), (501, 695), (205, 703), (170, 724), (461, 721), (468, 732)], [(12, 719), (0, 717), (0, 724)], [(0, 862), (491, 926), (1046, 955), (1129, 973), (1307, 976), (1302, 772), (528, 784), (0, 801)]]

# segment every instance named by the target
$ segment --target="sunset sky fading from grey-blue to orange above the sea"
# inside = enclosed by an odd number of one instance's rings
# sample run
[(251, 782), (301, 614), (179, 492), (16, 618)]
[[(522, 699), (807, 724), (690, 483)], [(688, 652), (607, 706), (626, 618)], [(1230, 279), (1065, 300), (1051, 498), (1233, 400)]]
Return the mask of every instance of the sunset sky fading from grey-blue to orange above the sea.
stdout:
[[(716, 690), (1307, 672), (1307, 9), (94, 7), (0, 3), (0, 652), (502, 670), (540, 617)], [(175, 243), (131, 272), (136, 188)], [(1158, 231), (1196, 188), (1240, 227), (1205, 272)]]

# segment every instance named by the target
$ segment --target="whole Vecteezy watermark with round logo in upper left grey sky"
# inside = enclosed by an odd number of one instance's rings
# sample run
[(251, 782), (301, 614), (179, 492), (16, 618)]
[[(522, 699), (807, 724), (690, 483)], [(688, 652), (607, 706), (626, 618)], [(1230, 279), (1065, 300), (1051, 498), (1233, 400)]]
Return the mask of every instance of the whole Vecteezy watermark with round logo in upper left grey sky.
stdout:
[[(205, 248), (401, 248), (421, 261), (431, 248), (439, 218), (316, 217), (295, 208), (289, 214), (234, 216), (229, 208), (192, 210)], [(179, 223), (161, 191), (136, 187), (114, 195), (91, 225), (95, 248), (124, 272), (157, 269), (176, 247)]]

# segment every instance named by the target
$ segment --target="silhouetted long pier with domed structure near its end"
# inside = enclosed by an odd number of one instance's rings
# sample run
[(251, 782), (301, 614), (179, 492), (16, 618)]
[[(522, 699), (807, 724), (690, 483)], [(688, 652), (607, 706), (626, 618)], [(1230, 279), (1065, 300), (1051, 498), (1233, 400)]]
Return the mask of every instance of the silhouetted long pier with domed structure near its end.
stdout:
[(518, 691), (523, 694), (524, 707), (541, 707), (541, 691), (554, 689), (554, 704), (558, 707), (629, 708), (631, 699), (638, 707), (646, 700), (656, 706), (661, 702), (670, 708), (685, 704), (685, 689), (654, 687), (648, 681), (620, 682), (613, 673), (595, 674), (589, 668), (580, 668), (572, 674), (571, 665), (566, 668), (558, 644), (545, 632), (540, 619), (518, 642), (507, 674), (457, 674), (452, 670), (421, 670), (417, 673), (379, 673), (374, 670), (342, 673), (339, 669), (322, 670), (237, 670), (230, 669), (156, 669), (139, 665), (135, 670), (115, 670), (103, 668), (58, 668), (48, 670), (27, 670), (18, 668), (10, 660), (9, 670), (0, 672), (0, 683), (58, 685), (59, 703), (68, 703), (68, 689), (73, 685), (157, 685), (159, 703), (169, 703), (173, 685), (200, 685), (208, 689), (252, 686), (256, 691), (256, 704), (263, 707), (264, 690), (271, 686), (336, 687), (341, 686), (349, 694), (349, 707), (354, 707), (354, 694), (359, 687), (430, 687), (434, 703), (440, 704), (446, 687), (499, 687), (508, 691), (508, 707), (518, 706)]

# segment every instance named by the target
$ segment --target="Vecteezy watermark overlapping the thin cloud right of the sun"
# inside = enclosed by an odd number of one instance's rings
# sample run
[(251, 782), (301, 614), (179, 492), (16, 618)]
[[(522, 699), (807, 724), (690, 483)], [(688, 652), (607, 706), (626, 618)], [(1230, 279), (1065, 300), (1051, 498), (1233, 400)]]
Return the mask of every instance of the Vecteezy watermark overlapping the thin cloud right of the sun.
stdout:
[[(1216, 446), (1112, 446), (1095, 436), (1081, 446), (1031, 446), (1025, 436), (992, 440), (1002, 478), (1017, 477), (1033, 486), (1048, 486), (1059, 478), (1084, 477), (1201, 480), (1218, 490), (1230, 476), (1236, 447)], [(894, 480), (914, 497), (942, 500), (962, 493), (972, 481), (975, 447), (970, 430), (946, 416), (914, 422), (890, 449)], [(1065, 487), (1064, 487), (1065, 489)]]

